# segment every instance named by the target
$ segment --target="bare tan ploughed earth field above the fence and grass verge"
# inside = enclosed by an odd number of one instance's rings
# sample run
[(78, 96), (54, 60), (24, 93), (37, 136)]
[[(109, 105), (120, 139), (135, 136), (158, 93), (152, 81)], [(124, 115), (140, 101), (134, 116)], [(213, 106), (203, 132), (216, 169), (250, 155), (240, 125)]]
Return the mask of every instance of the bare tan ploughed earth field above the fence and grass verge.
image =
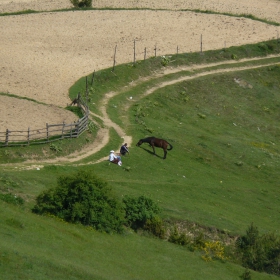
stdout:
[[(243, 45), (276, 38), (280, 28), (245, 18), (200, 14), (182, 9), (252, 14), (280, 22), (278, 0), (208, 1), (93, 1), (95, 8), (149, 8), (53, 12), (71, 8), (68, 0), (1, 0), (0, 13), (27, 9), (38, 14), (0, 17), (0, 131), (43, 128), (46, 123), (77, 119), (63, 108), (71, 101), (69, 87), (81, 76), (111, 67), (117, 45), (117, 63), (152, 56)], [(158, 10), (156, 10), (158, 9)], [(161, 9), (161, 10), (159, 10)], [(166, 10), (163, 10), (166, 9)], [(52, 12), (50, 12), (52, 11)], [(278, 33), (277, 33), (278, 32)], [(50, 106), (51, 105), (51, 106)]]

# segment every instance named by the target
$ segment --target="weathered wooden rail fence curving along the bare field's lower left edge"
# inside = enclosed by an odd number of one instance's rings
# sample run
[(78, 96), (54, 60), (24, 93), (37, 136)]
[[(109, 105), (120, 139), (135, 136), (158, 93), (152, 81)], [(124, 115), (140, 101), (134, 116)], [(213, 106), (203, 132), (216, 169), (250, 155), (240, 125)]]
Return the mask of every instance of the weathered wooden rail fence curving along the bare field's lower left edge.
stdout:
[(75, 103), (83, 111), (83, 117), (77, 122), (66, 124), (46, 124), (45, 128), (27, 131), (11, 131), (7, 129), (0, 132), (0, 147), (7, 146), (27, 146), (34, 144), (45, 144), (53, 141), (76, 138), (88, 129), (89, 109), (87, 102), (83, 100), (80, 93), (75, 99)]

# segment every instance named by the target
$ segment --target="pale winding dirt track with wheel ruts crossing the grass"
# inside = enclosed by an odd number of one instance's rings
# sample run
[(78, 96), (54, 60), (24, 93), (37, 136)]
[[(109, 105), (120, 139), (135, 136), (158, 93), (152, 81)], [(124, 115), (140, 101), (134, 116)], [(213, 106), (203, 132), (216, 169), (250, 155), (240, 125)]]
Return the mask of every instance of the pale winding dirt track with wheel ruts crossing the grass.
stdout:
[[(279, 61), (273, 62), (273, 63), (258, 63), (258, 65), (234, 67), (234, 64), (240, 64), (242, 62), (254, 62), (254, 61), (261, 62), (262, 60), (265, 60), (268, 58), (279, 58)], [(159, 83), (158, 85), (148, 89), (146, 92), (143, 92), (139, 97), (137, 97), (136, 101), (152, 94), (153, 92), (155, 92), (156, 90), (158, 90), (160, 88), (163, 88), (163, 87), (166, 87), (169, 85), (173, 85), (176, 83), (180, 83), (180, 82), (183, 82), (186, 80), (192, 80), (192, 79), (196, 79), (196, 78), (206, 76), (206, 75), (243, 71), (243, 70), (256, 69), (256, 68), (273, 66), (273, 65), (280, 65), (280, 54), (276, 55), (276, 56), (269, 56), (269, 57), (242, 59), (242, 60), (238, 60), (238, 61), (230, 60), (230, 61), (223, 61), (223, 62), (218, 62), (218, 63), (209, 63), (209, 64), (203, 64), (203, 65), (200, 64), (200, 65), (192, 65), (192, 66), (178, 67), (178, 68), (166, 67), (163, 69), (163, 71), (161, 71), (161, 73), (157, 73), (154, 76), (151, 76), (150, 79), (151, 78), (153, 78), (153, 79), (160, 78), (160, 77), (163, 77), (164, 75), (179, 73), (182, 71), (200, 70), (201, 72), (194, 73), (193, 75), (192, 74), (183, 75), (180, 78), (172, 79), (172, 80), (169, 80), (169, 81), (166, 81), (163, 83)], [(226, 66), (226, 68), (223, 67), (222, 69), (211, 70), (211, 67), (217, 67), (217, 66)], [(204, 68), (205, 68), (205, 71), (203, 71)], [(147, 81), (147, 78), (145, 78), (144, 80)], [(141, 80), (141, 79), (134, 81), (134, 83), (131, 87), (139, 85), (141, 82), (143, 82), (143, 80)], [(111, 98), (115, 97), (117, 94), (119, 94), (119, 93), (118, 92), (109, 92), (104, 95), (104, 97), (101, 101), (100, 108), (99, 108), (101, 111), (101, 115), (97, 115), (92, 112), (90, 113), (91, 116), (97, 117), (103, 122), (103, 127), (99, 128), (95, 140), (90, 145), (85, 147), (82, 151), (74, 152), (65, 157), (57, 157), (55, 159), (44, 160), (44, 161), (40, 161), (40, 162), (28, 160), (28, 161), (25, 161), (24, 163), (3, 164), (1, 166), (7, 167), (7, 168), (12, 167), (17, 170), (29, 170), (29, 169), (40, 169), (40, 168), (44, 167), (44, 165), (47, 165), (47, 164), (63, 165), (63, 164), (73, 163), (74, 165), (78, 166), (78, 165), (90, 165), (90, 164), (100, 163), (102, 161), (107, 160), (108, 155), (106, 155), (98, 160), (88, 162), (88, 163), (79, 163), (79, 161), (97, 153), (98, 151), (100, 151), (102, 148), (104, 148), (108, 144), (109, 139), (110, 139), (109, 138), (110, 128), (113, 128), (117, 132), (119, 137), (121, 137), (123, 139), (123, 142), (126, 142), (128, 144), (128, 146), (131, 146), (132, 141), (133, 141), (132, 136), (126, 135), (126, 132), (118, 124), (114, 123), (107, 114), (108, 102)], [(135, 101), (135, 99), (133, 101)], [(126, 107), (127, 109), (129, 109), (129, 107), (132, 105), (131, 100), (128, 100), (128, 102), (130, 102), (130, 103), (127, 104), (127, 107)], [(118, 150), (118, 147), (115, 147), (115, 149)]]

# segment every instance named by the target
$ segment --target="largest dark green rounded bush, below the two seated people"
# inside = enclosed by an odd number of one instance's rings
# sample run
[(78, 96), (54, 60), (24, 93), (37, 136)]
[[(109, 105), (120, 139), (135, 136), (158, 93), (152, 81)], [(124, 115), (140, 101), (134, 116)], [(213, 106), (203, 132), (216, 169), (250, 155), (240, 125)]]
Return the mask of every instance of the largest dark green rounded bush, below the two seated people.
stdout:
[(100, 231), (121, 232), (123, 229), (123, 209), (107, 183), (84, 171), (60, 177), (56, 188), (46, 190), (36, 198), (32, 211)]

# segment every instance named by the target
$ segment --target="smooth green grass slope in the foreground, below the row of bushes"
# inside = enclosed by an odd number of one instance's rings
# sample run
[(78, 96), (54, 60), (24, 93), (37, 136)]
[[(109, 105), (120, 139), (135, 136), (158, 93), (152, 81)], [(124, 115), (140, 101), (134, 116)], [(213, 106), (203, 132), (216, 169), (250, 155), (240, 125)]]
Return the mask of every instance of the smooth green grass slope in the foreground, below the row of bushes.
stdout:
[[(134, 233), (107, 235), (0, 201), (3, 279), (237, 279), (238, 265)], [(276, 279), (252, 273), (253, 279)]]

